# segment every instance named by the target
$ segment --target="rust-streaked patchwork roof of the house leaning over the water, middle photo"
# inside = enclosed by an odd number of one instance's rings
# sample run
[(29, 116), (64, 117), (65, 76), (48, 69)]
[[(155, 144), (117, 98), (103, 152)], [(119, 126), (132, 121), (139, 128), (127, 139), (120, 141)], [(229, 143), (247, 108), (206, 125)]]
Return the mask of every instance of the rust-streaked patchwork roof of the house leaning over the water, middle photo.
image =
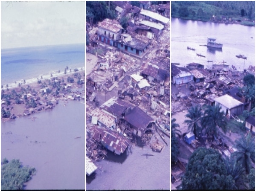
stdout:
[(106, 143), (108, 146), (114, 148), (115, 151), (120, 151), (120, 153), (123, 153), (125, 149), (128, 147), (128, 145), (131, 143), (125, 137), (122, 137), (118, 133), (111, 130), (103, 130), (102, 134), (102, 141)]

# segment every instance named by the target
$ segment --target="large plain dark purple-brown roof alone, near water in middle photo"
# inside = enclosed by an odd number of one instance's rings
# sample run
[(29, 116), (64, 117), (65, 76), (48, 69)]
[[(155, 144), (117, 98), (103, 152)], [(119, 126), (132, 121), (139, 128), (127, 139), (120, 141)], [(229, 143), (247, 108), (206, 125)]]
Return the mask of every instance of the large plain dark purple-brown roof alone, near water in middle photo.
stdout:
[(135, 128), (142, 131), (147, 128), (150, 122), (154, 122), (154, 119), (152, 119), (151, 116), (138, 107), (133, 108), (128, 114), (125, 115), (124, 119)]

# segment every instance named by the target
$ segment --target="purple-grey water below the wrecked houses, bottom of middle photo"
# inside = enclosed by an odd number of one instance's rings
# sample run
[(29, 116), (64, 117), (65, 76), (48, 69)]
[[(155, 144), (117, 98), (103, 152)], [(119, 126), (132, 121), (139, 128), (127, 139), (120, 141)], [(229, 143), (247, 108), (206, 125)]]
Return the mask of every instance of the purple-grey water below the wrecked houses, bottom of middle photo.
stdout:
[[(108, 158), (95, 163), (96, 173), (86, 176), (86, 190), (170, 190), (170, 139), (166, 140), (161, 153), (138, 146), (120, 156), (108, 151)], [(142, 156), (147, 153), (154, 156)]]

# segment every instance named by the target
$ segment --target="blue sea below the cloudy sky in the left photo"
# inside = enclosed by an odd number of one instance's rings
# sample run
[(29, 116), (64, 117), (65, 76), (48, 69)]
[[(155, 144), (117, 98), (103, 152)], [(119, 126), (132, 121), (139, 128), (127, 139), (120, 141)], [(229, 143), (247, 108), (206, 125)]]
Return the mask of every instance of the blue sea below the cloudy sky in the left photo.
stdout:
[(1, 84), (5, 87), (15, 81), (22, 83), (24, 79), (36, 81), (58, 70), (64, 73), (67, 66), (72, 70), (84, 69), (84, 47), (84, 44), (69, 44), (1, 49)]

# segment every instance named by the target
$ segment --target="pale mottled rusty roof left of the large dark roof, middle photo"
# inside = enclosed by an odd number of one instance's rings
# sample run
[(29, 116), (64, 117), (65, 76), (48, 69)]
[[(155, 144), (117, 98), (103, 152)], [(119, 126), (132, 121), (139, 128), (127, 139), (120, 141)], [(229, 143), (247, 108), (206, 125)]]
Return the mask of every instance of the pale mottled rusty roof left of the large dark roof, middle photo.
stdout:
[(96, 116), (98, 118), (98, 121), (106, 125), (108, 128), (112, 127), (113, 125), (116, 125), (115, 118), (108, 115), (107, 113), (104, 113), (99, 108), (96, 108), (93, 111), (91, 111), (90, 116)]

